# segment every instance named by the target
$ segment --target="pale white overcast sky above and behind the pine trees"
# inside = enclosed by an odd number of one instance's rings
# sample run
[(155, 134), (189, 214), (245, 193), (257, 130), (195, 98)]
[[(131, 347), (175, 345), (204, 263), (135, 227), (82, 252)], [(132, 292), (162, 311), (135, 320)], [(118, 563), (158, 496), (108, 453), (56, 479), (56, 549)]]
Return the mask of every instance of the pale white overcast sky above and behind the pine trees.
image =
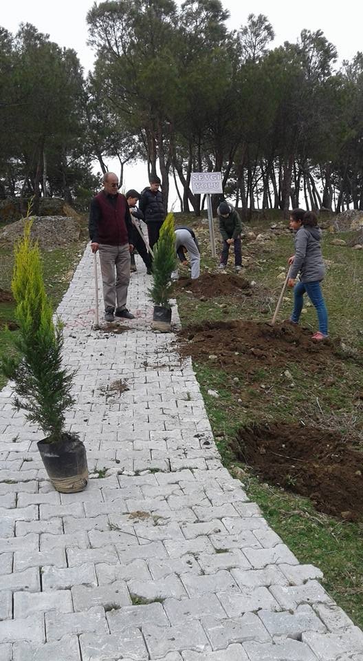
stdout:
[[(86, 14), (93, 5), (91, 0), (16, 0), (5, 3), (0, 0), (0, 25), (16, 32), (19, 23), (32, 23), (40, 32), (50, 34), (50, 39), (61, 46), (74, 48), (85, 70), (92, 68), (94, 55), (87, 46)], [(181, 1), (177, 4), (181, 5)], [(303, 28), (322, 30), (333, 43), (339, 56), (352, 59), (358, 50), (363, 51), (363, 1), (351, 0), (222, 0), (230, 10), (228, 27), (240, 28), (247, 23), (248, 14), (265, 14), (274, 28), (273, 45), (284, 41), (296, 41)], [(110, 165), (111, 167), (111, 165)], [(146, 167), (125, 168), (126, 187), (145, 184)]]

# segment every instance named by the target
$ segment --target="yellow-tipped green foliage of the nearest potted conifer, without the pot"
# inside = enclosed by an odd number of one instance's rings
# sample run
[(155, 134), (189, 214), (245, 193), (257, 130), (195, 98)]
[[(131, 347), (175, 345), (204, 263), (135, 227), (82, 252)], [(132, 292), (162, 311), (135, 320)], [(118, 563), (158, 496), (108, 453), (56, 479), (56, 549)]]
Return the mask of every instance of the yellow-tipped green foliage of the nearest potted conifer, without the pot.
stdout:
[(63, 326), (54, 325), (45, 292), (39, 246), (30, 238), (32, 220), (14, 251), (12, 293), (19, 332), (11, 334), (17, 355), (3, 357), (1, 370), (14, 381), (14, 407), (38, 424), (45, 437), (61, 441), (65, 410), (72, 406), (74, 372), (62, 366)]

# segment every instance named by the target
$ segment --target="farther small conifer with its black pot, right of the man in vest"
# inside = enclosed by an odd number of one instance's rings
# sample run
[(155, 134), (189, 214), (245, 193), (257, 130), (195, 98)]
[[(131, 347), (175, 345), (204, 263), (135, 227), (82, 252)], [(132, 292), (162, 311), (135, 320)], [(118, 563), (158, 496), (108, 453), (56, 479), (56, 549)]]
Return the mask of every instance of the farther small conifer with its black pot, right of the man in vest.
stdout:
[(176, 268), (174, 214), (168, 213), (154, 248), (153, 286), (148, 290), (154, 303), (153, 328), (169, 333), (171, 328), (171, 307), (169, 302), (173, 288), (171, 274)]

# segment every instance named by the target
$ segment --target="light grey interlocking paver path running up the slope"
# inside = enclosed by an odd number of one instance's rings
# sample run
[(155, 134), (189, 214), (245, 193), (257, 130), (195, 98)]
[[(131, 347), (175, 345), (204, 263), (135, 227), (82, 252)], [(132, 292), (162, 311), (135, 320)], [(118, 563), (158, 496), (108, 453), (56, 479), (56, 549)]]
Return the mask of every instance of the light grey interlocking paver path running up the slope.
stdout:
[(91, 330), (89, 248), (58, 308), (83, 493), (53, 490), (41, 435), (0, 393), (0, 661), (362, 661), (320, 571), (222, 467), (190, 362), (149, 329), (143, 269), (125, 333)]

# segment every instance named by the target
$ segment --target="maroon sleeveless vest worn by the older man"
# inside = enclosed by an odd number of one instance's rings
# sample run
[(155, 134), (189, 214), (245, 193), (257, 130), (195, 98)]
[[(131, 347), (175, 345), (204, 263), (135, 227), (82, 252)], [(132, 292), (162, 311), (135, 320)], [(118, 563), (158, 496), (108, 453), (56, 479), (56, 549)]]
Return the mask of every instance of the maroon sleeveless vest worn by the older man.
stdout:
[(96, 200), (101, 211), (101, 219), (98, 223), (98, 242), (109, 246), (123, 246), (129, 243), (127, 234), (125, 213), (126, 198), (118, 193), (115, 207), (107, 200), (104, 193), (98, 193)]

